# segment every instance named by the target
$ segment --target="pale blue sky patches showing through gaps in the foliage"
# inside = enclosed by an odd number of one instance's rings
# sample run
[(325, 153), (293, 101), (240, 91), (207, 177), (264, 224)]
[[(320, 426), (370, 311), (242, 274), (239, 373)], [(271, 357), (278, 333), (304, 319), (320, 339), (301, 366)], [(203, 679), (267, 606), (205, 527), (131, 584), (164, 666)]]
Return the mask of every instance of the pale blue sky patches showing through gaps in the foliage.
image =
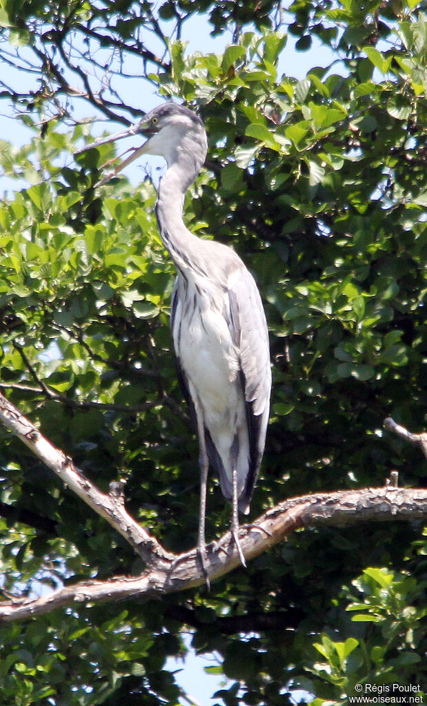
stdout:
[[(226, 47), (226, 44), (231, 43), (231, 35), (221, 37), (211, 37), (209, 34), (209, 23), (204, 16), (194, 16), (184, 25), (182, 40), (188, 42), (187, 52), (217, 52), (221, 53)], [(280, 58), (279, 73), (285, 73), (288, 76), (295, 78), (304, 78), (306, 73), (313, 66), (327, 66), (336, 58), (333, 56), (327, 47), (322, 47), (320, 42), (314, 37), (312, 48), (309, 52), (295, 51), (295, 38), (289, 36), (288, 43)], [(25, 76), (11, 72), (11, 77), (14, 81), (24, 81)], [(8, 80), (8, 76), (4, 75), (4, 80)], [(156, 107), (161, 102), (161, 99), (156, 95), (150, 84), (145, 81), (138, 81), (138, 90), (136, 90), (136, 80), (123, 80), (121, 85), (121, 95), (123, 100), (131, 104), (135, 104), (135, 93), (139, 92), (141, 109), (144, 111)], [(86, 114), (90, 116), (90, 106), (86, 104)], [(118, 124), (100, 124), (99, 130), (117, 131), (121, 128)], [(96, 131), (94, 131), (96, 133)], [(4, 140), (11, 142), (14, 146), (20, 147), (25, 144), (32, 136), (33, 132), (21, 125), (13, 116), (13, 109), (6, 103), (5, 100), (0, 101), (0, 134)], [(146, 157), (148, 167), (156, 169), (159, 162), (156, 158)], [(140, 167), (132, 165), (125, 172), (127, 176), (137, 183), (141, 179)], [(0, 184), (0, 193), (11, 194), (13, 189), (22, 189), (25, 187), (25, 182), (18, 182), (3, 177)], [(214, 589), (213, 589), (214, 590)], [(186, 638), (186, 644), (189, 645), (189, 637)], [(194, 698), (194, 704), (201, 706), (214, 706), (215, 703), (221, 702), (218, 699), (212, 699), (213, 694), (218, 688), (221, 688), (221, 679), (218, 676), (206, 674), (205, 666), (216, 664), (214, 655), (211, 657), (198, 657), (194, 651), (190, 650), (189, 656), (183, 664), (180, 660), (168, 659), (165, 669), (177, 672), (175, 678), (180, 686), (188, 695)], [(188, 703), (188, 702), (182, 702)], [(222, 703), (222, 702), (221, 702)]]

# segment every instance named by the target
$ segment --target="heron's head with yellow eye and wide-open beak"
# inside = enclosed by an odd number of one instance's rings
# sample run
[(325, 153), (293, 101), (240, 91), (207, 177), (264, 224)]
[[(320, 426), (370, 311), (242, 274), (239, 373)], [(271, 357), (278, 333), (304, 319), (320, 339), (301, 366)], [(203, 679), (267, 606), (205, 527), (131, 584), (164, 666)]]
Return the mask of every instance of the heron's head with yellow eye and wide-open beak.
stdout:
[(142, 136), (146, 142), (134, 148), (130, 157), (114, 169), (114, 175), (141, 155), (158, 155), (164, 157), (169, 166), (180, 162), (185, 164), (187, 171), (193, 168), (195, 177), (206, 159), (207, 139), (203, 122), (191, 110), (175, 103), (159, 105), (138, 123), (115, 135), (95, 140), (85, 150), (130, 136)]

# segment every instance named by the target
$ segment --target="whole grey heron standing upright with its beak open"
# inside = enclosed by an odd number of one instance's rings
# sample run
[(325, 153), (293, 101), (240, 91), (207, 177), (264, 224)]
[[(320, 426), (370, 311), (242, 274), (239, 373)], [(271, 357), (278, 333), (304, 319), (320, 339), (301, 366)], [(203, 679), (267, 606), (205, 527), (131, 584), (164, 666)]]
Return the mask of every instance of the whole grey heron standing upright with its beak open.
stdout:
[[(238, 512), (249, 512), (269, 419), (271, 368), (267, 321), (255, 280), (238, 255), (195, 236), (182, 218), (185, 193), (206, 159), (201, 119), (173, 103), (88, 148), (129, 136), (146, 142), (100, 182), (140, 155), (167, 163), (158, 186), (156, 216), (163, 244), (175, 263), (170, 324), (177, 374), (199, 437), (198, 555), (206, 582), (206, 486), (209, 462), (232, 503), (231, 534), (243, 566)], [(83, 151), (83, 150), (81, 150)]]

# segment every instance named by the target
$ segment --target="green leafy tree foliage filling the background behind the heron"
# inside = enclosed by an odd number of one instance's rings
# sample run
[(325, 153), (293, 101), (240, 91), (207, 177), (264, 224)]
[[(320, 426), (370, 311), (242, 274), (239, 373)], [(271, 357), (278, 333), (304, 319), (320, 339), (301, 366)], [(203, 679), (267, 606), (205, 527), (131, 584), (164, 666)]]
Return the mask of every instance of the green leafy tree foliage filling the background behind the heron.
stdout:
[[(197, 11), (210, 13), (216, 32), (230, 13), (238, 25), (221, 56), (188, 56), (158, 25), (168, 46), (158, 62), (141, 35), (146, 20), (156, 31), (149, 2), (59, 2), (52, 25), (45, 4), (1, 6), (5, 41), (16, 42), (16, 57), (33, 52), (44, 81), (13, 96), (33, 109), (23, 116), (30, 144), (0, 142), (4, 172), (27, 182), (0, 208), (1, 386), (11, 400), (101, 489), (126, 479), (129, 511), (165, 546), (194, 545), (197, 441), (175, 376), (174, 271), (155, 190), (146, 179), (134, 191), (123, 178), (95, 189), (109, 145), (64, 161), (90, 135), (78, 119), (70, 127), (78, 72), (59, 47), (104, 23), (106, 50), (123, 59), (134, 47), (163, 96), (199, 107), (209, 157), (186, 222), (233, 246), (264, 296), (274, 397), (253, 516), (295, 494), (382, 484), (392, 467), (420, 485), (421, 455), (381, 431), (389, 415), (421, 430), (425, 414), (427, 40), (418, 4), (296, 0), (279, 27), (275, 3), (167, 2), (160, 17), (173, 13), (180, 29), (177, 13)], [(245, 31), (249, 21), (256, 31)], [(340, 64), (282, 76), (287, 31), (300, 50), (317, 35)], [(89, 64), (99, 56), (93, 41)], [(119, 114), (114, 81), (108, 95), (90, 88), (83, 100)], [(0, 438), (6, 592), (141, 570), (103, 520), (8, 433)], [(207, 536), (228, 516), (212, 480)], [(220, 655), (226, 705), (287, 704), (298, 686), (340, 703), (356, 683), (422, 682), (423, 570), (416, 522), (298, 532), (209, 595), (74, 607), (2, 627), (1, 702), (176, 703), (164, 665), (185, 651), (185, 627), (194, 649)]]

